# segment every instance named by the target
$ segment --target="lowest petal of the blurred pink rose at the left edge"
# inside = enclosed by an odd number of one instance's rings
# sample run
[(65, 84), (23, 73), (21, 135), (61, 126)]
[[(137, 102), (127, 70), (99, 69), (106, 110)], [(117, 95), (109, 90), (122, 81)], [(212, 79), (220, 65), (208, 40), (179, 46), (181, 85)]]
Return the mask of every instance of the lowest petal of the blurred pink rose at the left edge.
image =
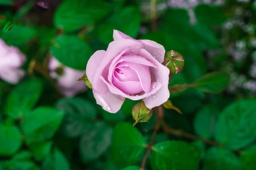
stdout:
[(21, 69), (0, 69), (0, 78), (11, 84), (17, 84), (25, 76), (25, 71)]

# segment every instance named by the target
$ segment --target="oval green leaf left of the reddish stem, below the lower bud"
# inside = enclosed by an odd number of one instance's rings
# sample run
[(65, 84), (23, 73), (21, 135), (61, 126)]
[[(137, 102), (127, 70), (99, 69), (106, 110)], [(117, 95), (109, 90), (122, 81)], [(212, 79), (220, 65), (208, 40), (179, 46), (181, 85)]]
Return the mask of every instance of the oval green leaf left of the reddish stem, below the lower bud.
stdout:
[(120, 122), (113, 132), (112, 153), (122, 167), (136, 164), (145, 153), (147, 143), (131, 123)]

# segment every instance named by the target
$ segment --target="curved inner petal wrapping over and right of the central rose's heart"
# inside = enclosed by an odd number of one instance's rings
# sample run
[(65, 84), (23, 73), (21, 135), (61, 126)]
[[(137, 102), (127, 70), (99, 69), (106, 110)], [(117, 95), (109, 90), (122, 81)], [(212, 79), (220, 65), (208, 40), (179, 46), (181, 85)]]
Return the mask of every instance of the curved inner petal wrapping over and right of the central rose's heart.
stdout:
[(140, 83), (143, 90), (145, 91), (145, 93), (149, 93), (150, 85), (151, 85), (151, 76), (150, 76), (149, 66), (137, 64), (134, 62), (121, 62), (118, 65), (116, 65), (116, 68), (119, 68), (122, 66), (130, 67), (132, 70), (136, 71), (139, 76)]

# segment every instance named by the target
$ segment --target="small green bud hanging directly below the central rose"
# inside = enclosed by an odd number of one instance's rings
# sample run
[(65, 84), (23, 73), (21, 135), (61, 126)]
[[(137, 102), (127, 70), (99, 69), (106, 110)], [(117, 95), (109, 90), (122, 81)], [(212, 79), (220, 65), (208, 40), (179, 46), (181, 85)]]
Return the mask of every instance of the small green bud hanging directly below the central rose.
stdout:
[(139, 102), (132, 108), (132, 116), (135, 120), (134, 125), (138, 122), (148, 122), (148, 120), (152, 117), (153, 111), (146, 107), (144, 102)]

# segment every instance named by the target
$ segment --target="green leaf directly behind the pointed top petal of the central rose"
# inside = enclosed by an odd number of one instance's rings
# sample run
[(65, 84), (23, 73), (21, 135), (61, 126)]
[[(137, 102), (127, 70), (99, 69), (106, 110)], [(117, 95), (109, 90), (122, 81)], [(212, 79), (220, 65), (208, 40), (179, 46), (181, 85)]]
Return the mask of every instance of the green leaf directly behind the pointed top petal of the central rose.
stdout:
[(125, 8), (120, 9), (120, 11), (115, 12), (99, 26), (99, 40), (105, 44), (109, 44), (109, 42), (113, 41), (114, 29), (121, 31), (130, 37), (136, 38), (140, 29), (140, 24), (141, 15), (139, 9), (134, 6), (126, 6)]

